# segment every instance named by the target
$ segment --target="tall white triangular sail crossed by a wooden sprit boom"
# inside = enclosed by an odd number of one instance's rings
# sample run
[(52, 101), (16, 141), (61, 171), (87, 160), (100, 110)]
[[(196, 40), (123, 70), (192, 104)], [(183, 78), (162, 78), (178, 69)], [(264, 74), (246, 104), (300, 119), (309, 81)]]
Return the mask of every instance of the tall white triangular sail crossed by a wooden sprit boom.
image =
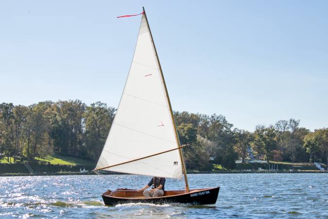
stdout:
[[(96, 168), (120, 164), (178, 147), (147, 20), (142, 15), (130, 72)], [(179, 151), (121, 164), (105, 170), (182, 178)]]

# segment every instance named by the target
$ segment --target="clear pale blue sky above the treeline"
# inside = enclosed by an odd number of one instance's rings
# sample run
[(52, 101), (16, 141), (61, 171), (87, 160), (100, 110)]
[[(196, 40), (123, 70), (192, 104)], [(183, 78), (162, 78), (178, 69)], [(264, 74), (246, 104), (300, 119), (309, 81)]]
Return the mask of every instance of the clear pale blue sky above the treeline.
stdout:
[(145, 7), (173, 110), (328, 127), (328, 1), (0, 2), (0, 102), (117, 107)]

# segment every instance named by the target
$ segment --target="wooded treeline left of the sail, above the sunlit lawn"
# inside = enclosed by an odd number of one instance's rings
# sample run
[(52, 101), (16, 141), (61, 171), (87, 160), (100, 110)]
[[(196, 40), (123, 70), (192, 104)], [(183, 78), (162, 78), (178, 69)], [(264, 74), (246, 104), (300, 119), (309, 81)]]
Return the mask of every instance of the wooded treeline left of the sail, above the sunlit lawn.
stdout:
[(115, 109), (80, 100), (45, 101), (31, 106), (0, 104), (0, 154), (14, 161), (34, 160), (54, 152), (96, 161)]

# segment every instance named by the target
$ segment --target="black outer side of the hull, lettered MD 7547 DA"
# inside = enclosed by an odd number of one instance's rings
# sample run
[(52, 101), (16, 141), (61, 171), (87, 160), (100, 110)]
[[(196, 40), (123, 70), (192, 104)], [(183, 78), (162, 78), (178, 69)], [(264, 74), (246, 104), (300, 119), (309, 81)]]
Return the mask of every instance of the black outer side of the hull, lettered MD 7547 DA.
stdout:
[(125, 203), (153, 203), (153, 204), (166, 204), (166, 203), (190, 203), (195, 205), (215, 204), (220, 187), (213, 187), (207, 189), (193, 190), (189, 193), (183, 193), (171, 196), (162, 196), (156, 198), (121, 198), (114, 197), (105, 192), (102, 197), (105, 205), (117, 205)]

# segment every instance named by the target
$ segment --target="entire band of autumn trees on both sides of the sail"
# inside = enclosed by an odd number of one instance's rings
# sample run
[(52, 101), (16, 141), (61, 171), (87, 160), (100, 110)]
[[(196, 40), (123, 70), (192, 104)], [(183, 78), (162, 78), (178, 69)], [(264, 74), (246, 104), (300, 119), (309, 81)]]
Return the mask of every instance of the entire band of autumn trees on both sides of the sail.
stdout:
[[(115, 108), (80, 100), (45, 101), (31, 106), (0, 104), (0, 156), (34, 160), (53, 153), (97, 161)], [(258, 125), (254, 132), (233, 128), (223, 115), (174, 112), (188, 169), (210, 170), (213, 164), (233, 169), (247, 149), (265, 160), (327, 164), (328, 128), (311, 132), (299, 120)], [(128, 137), (128, 136), (127, 136)]]

